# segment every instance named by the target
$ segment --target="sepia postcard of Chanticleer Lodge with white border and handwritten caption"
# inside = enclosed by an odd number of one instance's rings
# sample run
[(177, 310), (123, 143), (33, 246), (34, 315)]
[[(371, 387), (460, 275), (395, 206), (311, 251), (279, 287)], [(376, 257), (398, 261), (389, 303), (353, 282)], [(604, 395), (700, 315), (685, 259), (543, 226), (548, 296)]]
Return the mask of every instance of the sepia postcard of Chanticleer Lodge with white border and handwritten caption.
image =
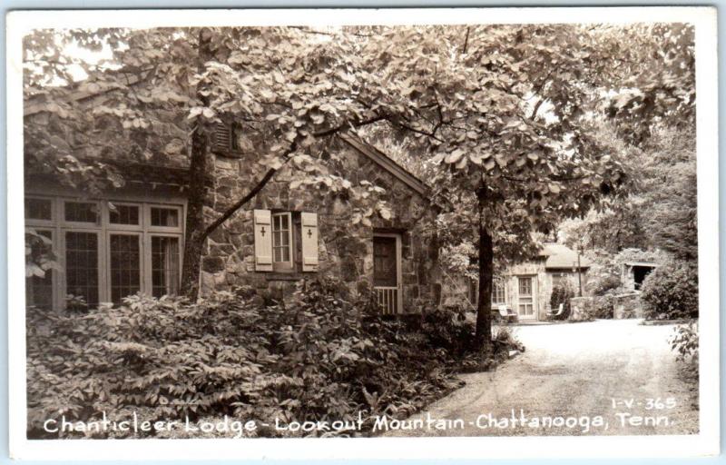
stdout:
[(38, 447), (699, 438), (718, 154), (697, 21), (641, 11), (25, 21), (12, 427)]

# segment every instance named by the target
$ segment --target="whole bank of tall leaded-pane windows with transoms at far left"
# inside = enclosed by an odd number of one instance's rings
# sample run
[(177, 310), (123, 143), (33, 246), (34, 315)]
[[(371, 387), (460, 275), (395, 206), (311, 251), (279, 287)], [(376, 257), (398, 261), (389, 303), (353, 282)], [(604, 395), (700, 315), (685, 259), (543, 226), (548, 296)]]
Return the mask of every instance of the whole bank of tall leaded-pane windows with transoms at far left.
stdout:
[(48, 239), (62, 270), (29, 277), (27, 304), (92, 307), (136, 292), (178, 293), (182, 212), (182, 204), (26, 198), (25, 226)]

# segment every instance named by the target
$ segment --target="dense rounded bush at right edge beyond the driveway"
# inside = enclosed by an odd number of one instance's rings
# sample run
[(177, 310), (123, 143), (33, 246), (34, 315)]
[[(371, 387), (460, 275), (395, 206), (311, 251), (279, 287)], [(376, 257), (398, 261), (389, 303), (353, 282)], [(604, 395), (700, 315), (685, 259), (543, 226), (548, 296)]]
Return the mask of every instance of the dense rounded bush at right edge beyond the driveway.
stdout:
[(669, 262), (643, 281), (641, 300), (651, 320), (698, 318), (698, 270), (687, 262)]

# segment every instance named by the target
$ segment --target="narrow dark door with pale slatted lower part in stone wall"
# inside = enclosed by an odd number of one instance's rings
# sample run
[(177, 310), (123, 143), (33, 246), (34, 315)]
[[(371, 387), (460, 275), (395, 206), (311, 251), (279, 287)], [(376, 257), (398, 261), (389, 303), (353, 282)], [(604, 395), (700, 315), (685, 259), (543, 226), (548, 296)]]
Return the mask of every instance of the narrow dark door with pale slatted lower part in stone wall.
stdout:
[(384, 314), (402, 312), (401, 295), (401, 236), (373, 236), (373, 287), (378, 305)]

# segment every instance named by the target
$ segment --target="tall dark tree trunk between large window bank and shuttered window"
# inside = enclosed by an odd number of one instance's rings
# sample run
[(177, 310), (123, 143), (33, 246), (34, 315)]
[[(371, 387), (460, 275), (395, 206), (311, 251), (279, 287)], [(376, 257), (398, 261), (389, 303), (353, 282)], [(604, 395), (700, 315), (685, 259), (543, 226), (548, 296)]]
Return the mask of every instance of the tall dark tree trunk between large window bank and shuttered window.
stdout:
[[(199, 63), (198, 69), (204, 70), (204, 64), (211, 59), (210, 32), (201, 29), (199, 32)], [(201, 104), (207, 105), (208, 99), (201, 94), (203, 87), (197, 87), (197, 98)], [(182, 261), (181, 293), (196, 301), (199, 296), (199, 274), (201, 249), (204, 245), (204, 200), (207, 196), (208, 167), (208, 136), (197, 119), (197, 127), (191, 134), (191, 154), (189, 164), (189, 186), (187, 191), (187, 220), (184, 239), (184, 259)]]

